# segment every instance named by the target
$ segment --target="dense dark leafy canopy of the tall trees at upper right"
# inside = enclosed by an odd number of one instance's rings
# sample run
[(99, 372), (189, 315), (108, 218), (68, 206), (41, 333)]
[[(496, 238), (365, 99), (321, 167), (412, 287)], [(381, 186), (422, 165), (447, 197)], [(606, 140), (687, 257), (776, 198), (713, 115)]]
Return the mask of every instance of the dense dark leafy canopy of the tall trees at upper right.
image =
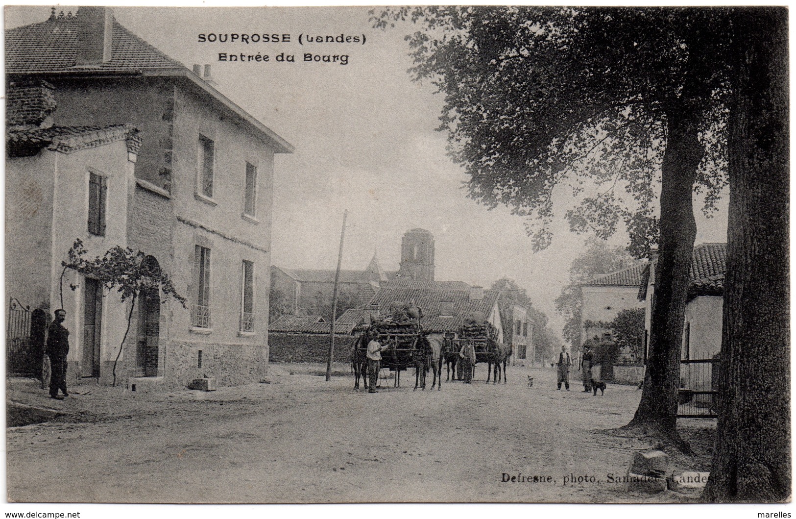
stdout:
[(623, 224), (641, 257), (656, 240), (667, 116), (684, 88), (694, 90), (689, 103), (705, 151), (696, 189), (708, 212), (726, 185), (727, 78), (715, 63), (728, 50), (720, 27), (709, 30), (720, 16), (443, 6), (384, 9), (373, 21), (423, 25), (406, 37), (410, 72), (445, 96), (439, 130), (470, 175), (471, 198), (528, 217), (534, 246), (544, 248), (553, 190), (567, 186), (579, 197), (565, 213), (573, 230), (605, 238)]

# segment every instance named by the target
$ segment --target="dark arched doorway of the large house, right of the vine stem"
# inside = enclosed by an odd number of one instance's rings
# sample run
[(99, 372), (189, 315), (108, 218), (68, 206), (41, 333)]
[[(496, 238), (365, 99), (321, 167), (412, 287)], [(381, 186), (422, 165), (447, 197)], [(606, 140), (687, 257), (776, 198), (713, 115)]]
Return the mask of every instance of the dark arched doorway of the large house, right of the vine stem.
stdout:
[[(146, 256), (146, 267), (159, 270), (154, 256)], [(160, 343), (160, 289), (142, 289), (139, 294), (138, 341), (135, 348), (135, 371), (137, 377), (158, 376), (158, 345)]]

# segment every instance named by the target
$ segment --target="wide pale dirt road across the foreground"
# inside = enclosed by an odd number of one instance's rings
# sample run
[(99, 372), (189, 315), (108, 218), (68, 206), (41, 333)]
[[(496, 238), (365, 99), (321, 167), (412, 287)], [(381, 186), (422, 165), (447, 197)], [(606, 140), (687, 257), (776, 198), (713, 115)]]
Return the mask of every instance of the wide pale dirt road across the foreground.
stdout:
[(442, 391), (413, 392), (414, 377), (404, 374), (409, 387), (367, 394), (353, 390), (352, 377), (327, 383), (285, 374), (216, 392), (84, 385), (63, 401), (46, 398), (33, 380), (13, 379), (8, 400), (68, 415), (8, 429), (7, 495), (38, 502), (679, 501), (670, 492), (627, 494), (611, 482), (625, 474), (634, 449), (650, 445), (599, 430), (627, 423), (640, 391), (609, 384), (605, 396), (592, 396), (577, 381), (572, 391), (556, 391), (550, 369), (509, 368), (508, 377), (505, 385), (443, 382)]

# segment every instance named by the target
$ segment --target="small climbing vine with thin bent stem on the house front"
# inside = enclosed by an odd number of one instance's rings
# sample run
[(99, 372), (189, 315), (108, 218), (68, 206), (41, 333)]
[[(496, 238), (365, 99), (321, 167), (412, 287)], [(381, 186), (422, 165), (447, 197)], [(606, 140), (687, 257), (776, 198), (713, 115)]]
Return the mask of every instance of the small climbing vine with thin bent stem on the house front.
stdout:
[[(103, 287), (108, 291), (119, 292), (119, 299), (122, 302), (130, 299), (130, 311), (127, 313), (127, 330), (124, 330), (122, 343), (119, 345), (119, 353), (113, 362), (113, 385), (116, 385), (116, 365), (119, 357), (122, 356), (124, 341), (130, 333), (130, 326), (133, 319), (135, 302), (144, 290), (159, 290), (162, 300), (174, 299), (185, 308), (185, 298), (178, 294), (171, 283), (171, 279), (166, 272), (162, 271), (157, 262), (146, 261), (146, 255), (139, 251), (133, 252), (131, 248), (121, 248), (116, 245), (109, 249), (103, 256), (96, 256), (93, 260), (88, 260), (85, 256), (88, 253), (83, 246), (83, 242), (78, 239), (72, 244), (68, 251), (68, 261), (61, 265), (64, 270), (61, 272), (60, 299), (61, 305), (64, 302), (63, 279), (67, 269), (72, 269), (80, 274), (97, 279), (103, 283)], [(70, 285), (72, 290), (75, 285)]]

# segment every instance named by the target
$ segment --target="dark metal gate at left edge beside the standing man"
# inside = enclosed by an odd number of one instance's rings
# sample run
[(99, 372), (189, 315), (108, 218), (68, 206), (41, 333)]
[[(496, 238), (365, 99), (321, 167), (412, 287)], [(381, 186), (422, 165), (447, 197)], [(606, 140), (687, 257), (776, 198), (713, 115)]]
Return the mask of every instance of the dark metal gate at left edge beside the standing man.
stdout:
[(41, 376), (47, 315), (11, 298), (6, 321), (6, 373)]

